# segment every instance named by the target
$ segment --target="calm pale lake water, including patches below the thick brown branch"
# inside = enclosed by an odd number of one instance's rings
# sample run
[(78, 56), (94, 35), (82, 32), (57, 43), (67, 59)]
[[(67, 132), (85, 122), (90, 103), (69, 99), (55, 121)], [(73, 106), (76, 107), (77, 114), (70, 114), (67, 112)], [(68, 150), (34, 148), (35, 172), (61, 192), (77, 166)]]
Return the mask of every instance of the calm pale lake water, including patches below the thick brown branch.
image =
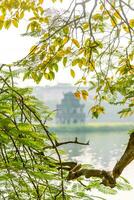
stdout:
[[(90, 145), (82, 146), (77, 144), (64, 145), (64, 150), (68, 154), (68, 159), (80, 163), (88, 163), (95, 168), (112, 169), (117, 160), (123, 154), (127, 145), (129, 135), (126, 130), (115, 131), (109, 127), (107, 131), (79, 131), (77, 128), (73, 132), (62, 128), (58, 135), (61, 141), (74, 140), (75, 137), (81, 142), (90, 141)], [(128, 178), (134, 186), (134, 162), (132, 162), (122, 174)], [(96, 193), (96, 192), (95, 192)], [(96, 193), (98, 194), (98, 193)], [(107, 200), (134, 200), (134, 190), (119, 191), (117, 195), (103, 195)]]

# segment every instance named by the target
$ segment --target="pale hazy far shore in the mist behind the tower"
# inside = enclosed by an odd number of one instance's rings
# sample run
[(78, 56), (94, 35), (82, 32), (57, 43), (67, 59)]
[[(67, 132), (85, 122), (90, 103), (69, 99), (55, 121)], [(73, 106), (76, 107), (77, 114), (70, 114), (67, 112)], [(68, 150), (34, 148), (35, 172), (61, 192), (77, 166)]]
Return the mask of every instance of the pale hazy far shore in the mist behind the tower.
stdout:
[[(87, 90), (88, 88), (81, 88), (83, 90)], [(52, 111), (56, 110), (57, 104), (61, 104), (62, 99), (64, 98), (64, 94), (68, 92), (74, 93), (77, 90), (77, 87), (72, 86), (67, 83), (60, 83), (55, 86), (36, 86), (33, 88), (33, 95), (35, 95), (39, 100), (43, 101), (46, 106), (48, 106)], [(111, 122), (120, 122), (120, 123), (133, 123), (134, 116), (128, 116), (125, 118), (120, 118), (120, 115), (117, 113), (123, 109), (121, 105), (112, 105), (107, 102), (103, 102), (103, 106), (105, 109), (105, 114), (101, 115), (98, 119), (94, 119), (89, 114), (89, 108), (91, 108), (94, 104), (94, 95), (95, 91), (90, 91), (88, 101), (83, 101), (84, 104), (84, 113), (86, 115), (86, 122), (100, 122), (100, 123), (111, 123)], [(53, 123), (57, 121), (54, 118)], [(59, 121), (59, 120), (58, 120)]]

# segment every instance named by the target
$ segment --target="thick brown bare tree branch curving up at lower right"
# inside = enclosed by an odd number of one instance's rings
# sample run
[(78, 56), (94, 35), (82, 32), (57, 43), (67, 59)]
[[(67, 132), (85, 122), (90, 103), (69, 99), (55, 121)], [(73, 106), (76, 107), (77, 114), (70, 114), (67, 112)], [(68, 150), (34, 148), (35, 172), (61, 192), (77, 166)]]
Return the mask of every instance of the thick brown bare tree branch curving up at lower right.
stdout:
[[(116, 179), (121, 175), (122, 171), (132, 160), (134, 160), (134, 132), (130, 136), (124, 154), (116, 163), (112, 171), (86, 168), (82, 169), (81, 164), (76, 164), (73, 168), (70, 167), (67, 180), (77, 179), (80, 176), (85, 176), (85, 178), (99, 177), (102, 179), (102, 184), (113, 188), (116, 185)], [(66, 163), (66, 166), (67, 165), (69, 166), (70, 164)]]

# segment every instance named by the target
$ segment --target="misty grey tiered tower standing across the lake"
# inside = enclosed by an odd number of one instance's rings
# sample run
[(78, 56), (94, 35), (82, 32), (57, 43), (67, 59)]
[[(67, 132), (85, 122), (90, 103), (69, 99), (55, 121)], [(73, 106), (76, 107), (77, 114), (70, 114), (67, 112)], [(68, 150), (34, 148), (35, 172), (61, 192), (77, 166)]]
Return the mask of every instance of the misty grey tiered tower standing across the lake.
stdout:
[(72, 92), (65, 93), (61, 103), (57, 105), (57, 123), (83, 123), (85, 118), (84, 105), (74, 97)]

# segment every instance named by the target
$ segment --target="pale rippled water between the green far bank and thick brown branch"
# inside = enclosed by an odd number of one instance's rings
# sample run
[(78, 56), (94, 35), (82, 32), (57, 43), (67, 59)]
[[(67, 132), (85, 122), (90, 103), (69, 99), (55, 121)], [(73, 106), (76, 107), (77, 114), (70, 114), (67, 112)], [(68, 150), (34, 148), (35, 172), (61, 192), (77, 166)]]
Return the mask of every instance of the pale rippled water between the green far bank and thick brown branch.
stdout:
[(90, 141), (89, 146), (77, 144), (64, 145), (68, 159), (88, 163), (99, 167), (113, 167), (127, 145), (129, 135), (126, 132), (93, 132), (58, 134), (61, 141), (74, 140)]

